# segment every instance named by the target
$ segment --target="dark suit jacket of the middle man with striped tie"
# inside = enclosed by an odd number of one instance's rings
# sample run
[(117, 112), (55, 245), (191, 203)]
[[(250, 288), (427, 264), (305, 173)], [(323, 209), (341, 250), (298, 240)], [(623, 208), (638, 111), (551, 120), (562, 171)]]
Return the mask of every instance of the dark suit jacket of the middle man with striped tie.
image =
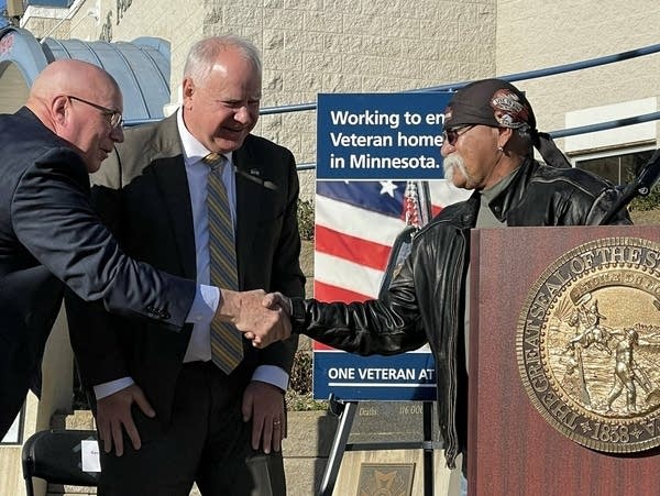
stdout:
[[(293, 154), (250, 135), (233, 153), (233, 162), (239, 170), (240, 288), (302, 295), (298, 176)], [(264, 180), (274, 184), (276, 190), (265, 187)], [(117, 146), (117, 154), (108, 158), (92, 183), (95, 206), (131, 256), (183, 277), (196, 277), (193, 211), (176, 115), (127, 130), (124, 143)], [(167, 423), (191, 327), (176, 335), (163, 335), (148, 322), (129, 322), (89, 310), (72, 312), (74, 320), (69, 316), (72, 344), (84, 384), (89, 387), (130, 375), (145, 392), (157, 418)], [(90, 333), (90, 326), (114, 332)], [(288, 372), (296, 346), (296, 338), (264, 350), (245, 341), (245, 357), (234, 374), (248, 381), (260, 364)]]

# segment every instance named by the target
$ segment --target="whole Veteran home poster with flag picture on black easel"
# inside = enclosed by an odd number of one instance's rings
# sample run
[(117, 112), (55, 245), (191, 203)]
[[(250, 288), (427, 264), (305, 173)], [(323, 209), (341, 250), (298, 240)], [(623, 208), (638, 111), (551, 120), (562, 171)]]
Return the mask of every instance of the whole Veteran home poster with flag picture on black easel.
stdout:
[[(317, 202), (316, 216), (324, 205), (327, 211), (341, 206), (341, 212), (354, 212), (350, 217), (369, 223), (382, 223), (380, 230), (382, 238), (364, 240), (367, 243), (389, 245), (389, 240), (395, 238), (389, 253), (387, 266), (384, 269), (384, 280), (381, 284), (381, 293), (388, 286), (397, 268), (404, 262), (410, 251), (410, 243), (416, 230), (422, 227), (432, 217), (431, 195), (428, 184), (422, 181), (437, 179), (442, 175), (442, 126), (444, 124), (444, 108), (449, 103), (451, 92), (427, 92), (427, 93), (320, 93), (317, 100)], [(367, 145), (365, 146), (365, 143)], [(362, 179), (367, 179), (363, 181)], [(350, 184), (358, 180), (356, 184)], [(406, 189), (397, 191), (398, 186), (394, 181), (406, 181)], [(355, 183), (355, 181), (354, 181)], [(417, 185), (419, 183), (419, 185)], [(359, 186), (358, 186), (359, 185)], [(410, 187), (410, 190), (408, 190)], [(419, 190), (418, 190), (419, 188)], [(416, 191), (417, 194), (414, 194)], [(442, 205), (458, 201), (452, 197), (442, 201)], [(344, 210), (346, 209), (346, 210)], [(331, 218), (339, 219), (338, 222), (330, 221)], [(354, 223), (355, 231), (346, 231), (346, 214), (334, 216), (324, 219), (322, 225), (326, 231), (334, 231), (348, 234), (354, 239), (361, 239), (359, 222)], [(377, 219), (377, 221), (375, 221)], [(403, 224), (405, 219), (406, 227)], [(399, 227), (400, 225), (400, 227)], [(403, 229), (403, 232), (399, 230)], [(317, 233), (318, 234), (318, 233)], [(317, 246), (323, 234), (316, 238)], [(323, 240), (326, 246), (338, 245), (334, 234)], [(387, 239), (387, 241), (385, 241)], [(320, 244), (323, 244), (320, 243)], [(332, 251), (323, 251), (323, 256), (330, 255), (338, 260), (349, 262), (339, 264), (342, 267), (356, 267), (362, 262), (352, 258), (351, 254)], [(373, 275), (381, 271), (382, 254), (374, 256), (375, 265), (369, 265), (365, 269), (365, 286), (360, 288), (339, 287), (349, 293), (332, 293), (329, 287), (336, 286), (334, 275), (323, 279), (321, 271), (317, 271), (315, 279), (315, 297), (321, 301), (341, 300), (348, 295), (374, 296)], [(317, 268), (320, 264), (317, 264)], [(337, 264), (332, 264), (329, 271), (334, 272)], [(375, 268), (381, 267), (381, 268)], [(340, 272), (342, 269), (340, 268)], [(345, 277), (359, 279), (350, 269)], [(321, 284), (319, 284), (321, 283)], [(317, 287), (322, 290), (317, 293)], [(343, 295), (343, 296), (342, 296)], [(350, 300), (350, 298), (349, 298)], [(424, 495), (432, 496), (435, 486), (433, 451), (439, 449), (439, 443), (432, 441), (432, 403), (426, 394), (435, 388), (435, 367), (431, 365), (432, 357), (428, 353), (411, 353), (406, 356), (369, 356), (360, 357), (360, 362), (351, 363), (351, 359), (339, 353), (315, 353), (315, 374), (323, 371), (321, 376), (328, 379), (323, 383), (315, 381), (315, 397), (324, 398), (330, 394), (330, 411), (339, 416), (340, 422), (334, 436), (328, 464), (323, 474), (319, 496), (331, 496), (341, 461), (345, 451), (376, 451), (376, 450), (424, 450)], [(385, 360), (386, 362), (383, 362)], [(386, 363), (387, 365), (382, 365)], [(372, 377), (369, 372), (361, 375), (360, 370), (396, 370), (405, 371), (395, 378)], [(329, 371), (334, 371), (330, 376)], [(349, 372), (350, 371), (350, 372)], [(355, 373), (358, 371), (358, 373)], [(410, 377), (409, 373), (415, 376)], [(358, 385), (358, 379), (362, 384)], [(383, 394), (383, 387), (388, 383), (398, 381), (397, 387), (392, 392)], [(352, 383), (353, 382), (353, 383)], [(353, 426), (358, 400), (363, 390), (370, 389), (370, 400), (404, 400), (409, 394), (403, 386), (416, 387), (418, 390), (415, 400), (422, 401), (422, 441), (415, 442), (378, 442), (378, 443), (349, 443), (349, 436)], [(334, 389), (333, 389), (334, 388)], [(349, 390), (353, 388), (353, 390)], [(375, 389), (374, 389), (375, 388)], [(345, 401), (338, 400), (332, 393), (345, 393)], [(380, 390), (384, 397), (373, 397), (373, 392)], [(377, 395), (376, 395), (377, 396)], [(436, 445), (437, 444), (437, 445)], [(417, 453), (419, 454), (419, 453)], [(417, 459), (419, 460), (419, 458)], [(418, 462), (419, 463), (419, 462)], [(419, 493), (419, 485), (416, 491)]]

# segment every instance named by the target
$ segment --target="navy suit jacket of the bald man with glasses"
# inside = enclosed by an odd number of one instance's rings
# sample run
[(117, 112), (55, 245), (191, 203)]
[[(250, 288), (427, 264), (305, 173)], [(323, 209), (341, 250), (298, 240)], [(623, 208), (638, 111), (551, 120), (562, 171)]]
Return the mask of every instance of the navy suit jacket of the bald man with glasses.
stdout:
[(0, 151), (2, 437), (38, 370), (64, 285), (108, 310), (173, 330), (183, 327), (196, 286), (119, 249), (91, 209), (81, 157), (30, 110), (0, 115)]

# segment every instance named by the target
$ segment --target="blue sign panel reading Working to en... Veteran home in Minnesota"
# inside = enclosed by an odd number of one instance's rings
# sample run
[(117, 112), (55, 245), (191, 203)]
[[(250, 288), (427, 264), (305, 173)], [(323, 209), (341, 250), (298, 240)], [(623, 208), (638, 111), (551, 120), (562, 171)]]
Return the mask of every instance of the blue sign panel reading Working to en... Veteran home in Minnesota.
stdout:
[(318, 96), (318, 179), (441, 179), (450, 92)]

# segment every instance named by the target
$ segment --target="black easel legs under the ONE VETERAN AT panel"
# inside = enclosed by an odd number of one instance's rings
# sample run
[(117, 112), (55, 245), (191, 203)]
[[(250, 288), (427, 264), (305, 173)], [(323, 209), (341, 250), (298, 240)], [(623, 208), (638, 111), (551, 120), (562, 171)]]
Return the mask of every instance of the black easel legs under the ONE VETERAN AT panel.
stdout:
[(318, 496), (332, 496), (334, 483), (339, 475), (339, 469), (345, 451), (370, 451), (370, 450), (424, 450), (424, 496), (433, 496), (433, 451), (440, 445), (432, 440), (432, 418), (433, 404), (424, 401), (422, 423), (424, 423), (424, 440), (411, 442), (380, 442), (380, 443), (349, 443), (349, 436), (358, 411), (359, 401), (342, 401), (337, 399), (333, 394), (329, 398), (329, 410), (339, 417), (339, 427), (332, 441), (332, 448), (328, 455), (328, 464), (323, 472), (321, 488)]

